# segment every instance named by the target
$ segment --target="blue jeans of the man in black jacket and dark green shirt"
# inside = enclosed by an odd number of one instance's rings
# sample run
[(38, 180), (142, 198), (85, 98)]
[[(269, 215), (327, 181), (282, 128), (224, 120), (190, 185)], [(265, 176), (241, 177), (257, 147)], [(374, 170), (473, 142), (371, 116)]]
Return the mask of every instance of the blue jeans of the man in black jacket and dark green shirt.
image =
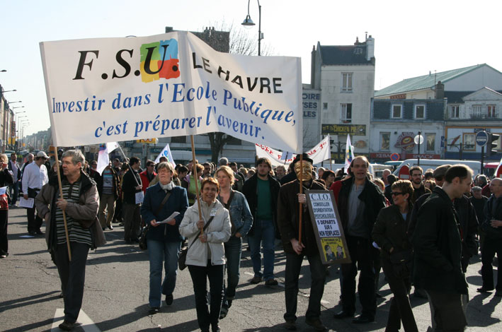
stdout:
[(275, 259), (274, 251), (275, 227), (273, 220), (256, 219), (254, 222), (253, 235), (249, 236), (249, 247), (251, 249), (251, 261), (253, 261), (253, 271), (255, 276), (262, 276), (261, 273), (261, 247), (263, 246), (263, 279), (274, 278), (273, 264)]

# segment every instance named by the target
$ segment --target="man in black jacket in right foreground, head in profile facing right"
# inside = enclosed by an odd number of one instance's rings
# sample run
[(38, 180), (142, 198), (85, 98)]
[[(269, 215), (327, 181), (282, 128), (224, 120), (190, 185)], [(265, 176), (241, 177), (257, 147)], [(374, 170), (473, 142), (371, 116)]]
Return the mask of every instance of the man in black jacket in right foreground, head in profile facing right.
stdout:
[(462, 296), (467, 282), (462, 271), (462, 232), (453, 199), (469, 191), (472, 170), (454, 165), (418, 210), (411, 242), (415, 253), (413, 281), (426, 290), (435, 328), (463, 331), (467, 325)]

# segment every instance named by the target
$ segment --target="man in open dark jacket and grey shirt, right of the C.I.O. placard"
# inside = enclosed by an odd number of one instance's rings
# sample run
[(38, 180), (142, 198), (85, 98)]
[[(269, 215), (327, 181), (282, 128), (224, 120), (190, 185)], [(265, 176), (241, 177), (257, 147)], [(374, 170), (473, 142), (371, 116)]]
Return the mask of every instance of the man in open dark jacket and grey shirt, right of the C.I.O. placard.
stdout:
[[(373, 261), (378, 252), (372, 246), (371, 232), (380, 209), (385, 207), (385, 198), (376, 184), (367, 179), (369, 162), (358, 156), (350, 163), (348, 179), (338, 186), (338, 213), (352, 263), (341, 264), (341, 300), (343, 309), (335, 314), (336, 319), (351, 317), (355, 313), (355, 276), (359, 275), (359, 300), (363, 311), (355, 324), (375, 321), (377, 300)], [(357, 263), (357, 265), (356, 265)]]

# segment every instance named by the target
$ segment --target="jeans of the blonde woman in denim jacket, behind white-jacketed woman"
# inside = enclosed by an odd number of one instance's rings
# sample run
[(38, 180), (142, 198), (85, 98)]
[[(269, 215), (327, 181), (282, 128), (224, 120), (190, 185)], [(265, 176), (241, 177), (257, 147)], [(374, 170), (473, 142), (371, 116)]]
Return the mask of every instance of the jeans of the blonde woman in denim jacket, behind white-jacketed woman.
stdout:
[(227, 300), (234, 300), (235, 289), (239, 285), (239, 268), (241, 267), (242, 238), (232, 236), (224, 243), (227, 257), (227, 287), (224, 287), (223, 306), (228, 307)]

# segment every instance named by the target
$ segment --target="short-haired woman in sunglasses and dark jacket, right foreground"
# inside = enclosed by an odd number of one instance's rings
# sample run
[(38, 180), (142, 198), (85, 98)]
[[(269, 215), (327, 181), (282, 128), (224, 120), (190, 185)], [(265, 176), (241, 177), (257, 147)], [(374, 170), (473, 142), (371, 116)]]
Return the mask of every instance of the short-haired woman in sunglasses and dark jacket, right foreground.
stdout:
[(413, 196), (411, 182), (408, 180), (394, 182), (392, 184), (394, 205), (380, 210), (372, 231), (373, 239), (381, 248), (382, 268), (394, 295), (390, 304), (386, 332), (399, 331), (401, 322), (404, 331), (418, 332), (409, 301), (412, 249), (406, 230), (411, 217), (411, 196)]

